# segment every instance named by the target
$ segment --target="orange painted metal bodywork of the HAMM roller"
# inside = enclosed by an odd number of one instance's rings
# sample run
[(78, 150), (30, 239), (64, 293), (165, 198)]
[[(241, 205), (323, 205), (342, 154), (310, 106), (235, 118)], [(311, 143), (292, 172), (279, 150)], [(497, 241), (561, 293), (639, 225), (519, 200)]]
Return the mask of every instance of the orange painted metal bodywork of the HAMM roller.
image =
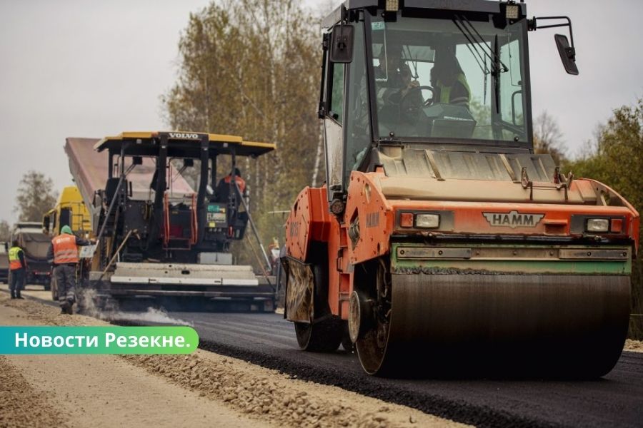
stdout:
[[(311, 241), (328, 245), (329, 307), (334, 315), (347, 319), (348, 298), (353, 289), (353, 267), (390, 251), (393, 234), (411, 235), (429, 233), (430, 230), (409, 230), (396, 225), (398, 211), (451, 211), (452, 230), (439, 230), (441, 234), (497, 234), (569, 236), (572, 215), (618, 216), (622, 218), (622, 232), (604, 236), (629, 237), (638, 247), (639, 213), (614, 190), (594, 180), (574, 181), (569, 191), (582, 195), (611, 193), (621, 198), (621, 206), (578, 205), (554, 203), (481, 203), (439, 200), (387, 200), (379, 189), (377, 178), (384, 171), (374, 173), (353, 171), (347, 190), (347, 204), (339, 220), (329, 212), (326, 188), (304, 188), (286, 223), (286, 250), (290, 257), (309, 263), (307, 258)], [(463, 184), (464, 185), (464, 184)], [(492, 183), (490, 183), (492, 185)], [(484, 213), (542, 214), (534, 227), (498, 227), (489, 223)], [(352, 241), (349, 230), (359, 229), (359, 238)]]

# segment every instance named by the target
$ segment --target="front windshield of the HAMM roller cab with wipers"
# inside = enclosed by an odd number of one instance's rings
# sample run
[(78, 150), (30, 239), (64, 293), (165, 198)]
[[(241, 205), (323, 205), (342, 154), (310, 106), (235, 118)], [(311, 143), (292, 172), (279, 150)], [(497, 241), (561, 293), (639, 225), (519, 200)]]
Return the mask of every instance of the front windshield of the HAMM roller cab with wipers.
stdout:
[(374, 16), (379, 138), (527, 142), (523, 26)]

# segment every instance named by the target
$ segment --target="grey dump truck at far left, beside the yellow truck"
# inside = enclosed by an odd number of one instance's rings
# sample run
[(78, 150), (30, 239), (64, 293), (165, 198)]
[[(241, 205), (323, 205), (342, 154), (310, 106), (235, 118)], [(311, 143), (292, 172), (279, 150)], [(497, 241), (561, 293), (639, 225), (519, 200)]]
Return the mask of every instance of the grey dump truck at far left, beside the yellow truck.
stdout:
[(50, 239), (42, 231), (41, 223), (37, 221), (21, 221), (14, 225), (11, 230), (11, 242), (18, 241), (18, 245), (24, 250), (24, 261), (26, 262), (25, 284), (43, 285), (49, 290), (51, 271), (47, 260)]

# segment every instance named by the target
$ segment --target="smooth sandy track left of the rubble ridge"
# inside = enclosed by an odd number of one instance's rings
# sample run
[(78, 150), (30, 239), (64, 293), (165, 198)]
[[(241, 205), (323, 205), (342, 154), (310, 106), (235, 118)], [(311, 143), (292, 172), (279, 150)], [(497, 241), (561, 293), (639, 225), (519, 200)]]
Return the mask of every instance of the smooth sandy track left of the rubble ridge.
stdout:
[[(34, 302), (11, 302), (1, 325), (49, 325)], [(28, 309), (28, 310), (24, 310)], [(50, 309), (50, 308), (45, 308)], [(55, 312), (54, 308), (51, 308)], [(26, 313), (30, 315), (26, 315)], [(54, 316), (65, 325), (64, 315)], [(75, 321), (75, 320), (74, 320)], [(91, 320), (90, 320), (91, 321)], [(81, 325), (70, 322), (69, 324)], [(88, 324), (96, 324), (88, 322)], [(6, 427), (271, 427), (116, 355), (7, 355), (0, 357)], [(6, 389), (6, 391), (5, 391)]]

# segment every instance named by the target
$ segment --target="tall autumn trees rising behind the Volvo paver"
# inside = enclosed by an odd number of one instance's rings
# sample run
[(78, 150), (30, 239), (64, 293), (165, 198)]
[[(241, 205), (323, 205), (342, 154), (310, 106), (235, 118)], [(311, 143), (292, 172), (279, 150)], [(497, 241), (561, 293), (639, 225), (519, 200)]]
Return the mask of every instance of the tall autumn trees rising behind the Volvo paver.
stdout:
[(323, 181), (320, 42), (318, 22), (294, 1), (212, 2), (191, 14), (178, 81), (161, 98), (171, 128), (276, 143), (275, 153), (239, 165), (266, 246), (284, 224), (268, 212), (289, 209), (305, 185)]

